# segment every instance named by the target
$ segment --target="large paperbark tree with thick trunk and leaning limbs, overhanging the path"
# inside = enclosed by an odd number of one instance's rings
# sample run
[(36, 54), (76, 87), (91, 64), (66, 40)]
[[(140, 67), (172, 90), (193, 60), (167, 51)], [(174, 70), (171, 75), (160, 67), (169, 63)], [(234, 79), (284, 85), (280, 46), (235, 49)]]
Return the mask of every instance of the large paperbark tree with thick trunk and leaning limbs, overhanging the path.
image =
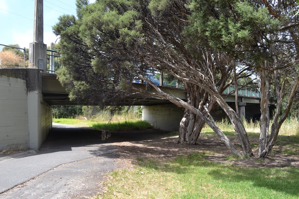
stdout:
[[(117, 98), (119, 88), (121, 96), (135, 90), (135, 94), (168, 99), (188, 109), (181, 122), (185, 131), (180, 131), (180, 142), (194, 144), (205, 122), (240, 156), (210, 117), (210, 110), (218, 103), (239, 136), (243, 154), (252, 155), (241, 119), (221, 96), (234, 63), (226, 53), (216, 51), (207, 42), (188, 44), (184, 31), (192, 12), (186, 3), (103, 0), (82, 7), (78, 19), (62, 16), (54, 32), (60, 35), (61, 61), (68, 70), (69, 80), (65, 84), (72, 98), (94, 100), (92, 96), (97, 92), (92, 91), (100, 87), (100, 96), (106, 101), (111, 96)], [(188, 103), (161, 92), (147, 78), (152, 69), (179, 79), (188, 92)], [(62, 82), (65, 79), (63, 74), (59, 78)], [(147, 81), (157, 92), (134, 87), (132, 81), (138, 78)], [(107, 82), (111, 92), (104, 91)], [(89, 95), (83, 96), (82, 91)], [(98, 96), (96, 99), (103, 101)]]

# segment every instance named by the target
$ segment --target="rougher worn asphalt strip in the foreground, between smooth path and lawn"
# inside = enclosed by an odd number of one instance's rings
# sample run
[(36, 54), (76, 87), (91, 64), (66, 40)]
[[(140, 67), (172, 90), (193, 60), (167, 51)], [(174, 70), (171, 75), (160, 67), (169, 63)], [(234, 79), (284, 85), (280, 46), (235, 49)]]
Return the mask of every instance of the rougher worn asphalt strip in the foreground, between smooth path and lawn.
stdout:
[(0, 198), (93, 198), (102, 191), (105, 175), (119, 168), (117, 158), (118, 154), (110, 153), (59, 166), (0, 194)]

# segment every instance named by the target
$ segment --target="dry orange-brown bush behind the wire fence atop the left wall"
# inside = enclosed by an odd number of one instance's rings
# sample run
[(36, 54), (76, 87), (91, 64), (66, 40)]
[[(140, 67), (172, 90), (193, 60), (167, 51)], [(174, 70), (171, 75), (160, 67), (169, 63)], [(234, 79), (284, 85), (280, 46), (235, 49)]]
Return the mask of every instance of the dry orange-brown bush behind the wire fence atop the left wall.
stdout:
[(13, 51), (0, 52), (0, 67), (24, 67), (24, 58), (16, 55)]

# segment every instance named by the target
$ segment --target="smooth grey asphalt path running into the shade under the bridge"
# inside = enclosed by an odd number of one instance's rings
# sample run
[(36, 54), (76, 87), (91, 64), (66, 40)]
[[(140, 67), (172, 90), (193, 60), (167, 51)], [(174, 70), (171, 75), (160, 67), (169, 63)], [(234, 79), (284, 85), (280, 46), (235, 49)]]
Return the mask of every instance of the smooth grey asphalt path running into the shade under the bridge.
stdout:
[[(53, 124), (52, 131), (39, 151), (39, 153), (0, 163), (0, 193), (27, 182), (59, 165), (111, 154), (116, 152), (116, 149), (110, 146), (109, 143), (101, 141), (100, 131)], [(110, 159), (108, 158), (108, 160)], [(110, 169), (113, 169), (112, 167)], [(76, 170), (76, 164), (74, 164), (74, 170)], [(61, 174), (63, 174), (63, 171)], [(76, 176), (76, 173), (72, 174)], [(68, 175), (66, 173), (66, 176)], [(0, 198), (4, 196), (1, 195)]]

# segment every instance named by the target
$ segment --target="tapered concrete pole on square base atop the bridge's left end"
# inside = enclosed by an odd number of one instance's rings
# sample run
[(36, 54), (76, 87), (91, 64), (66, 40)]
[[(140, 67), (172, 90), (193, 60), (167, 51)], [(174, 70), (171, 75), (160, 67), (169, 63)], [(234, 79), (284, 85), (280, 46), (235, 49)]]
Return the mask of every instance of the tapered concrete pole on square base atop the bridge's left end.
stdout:
[(29, 67), (47, 72), (47, 45), (44, 44), (43, 0), (35, 0), (33, 42), (29, 44)]

